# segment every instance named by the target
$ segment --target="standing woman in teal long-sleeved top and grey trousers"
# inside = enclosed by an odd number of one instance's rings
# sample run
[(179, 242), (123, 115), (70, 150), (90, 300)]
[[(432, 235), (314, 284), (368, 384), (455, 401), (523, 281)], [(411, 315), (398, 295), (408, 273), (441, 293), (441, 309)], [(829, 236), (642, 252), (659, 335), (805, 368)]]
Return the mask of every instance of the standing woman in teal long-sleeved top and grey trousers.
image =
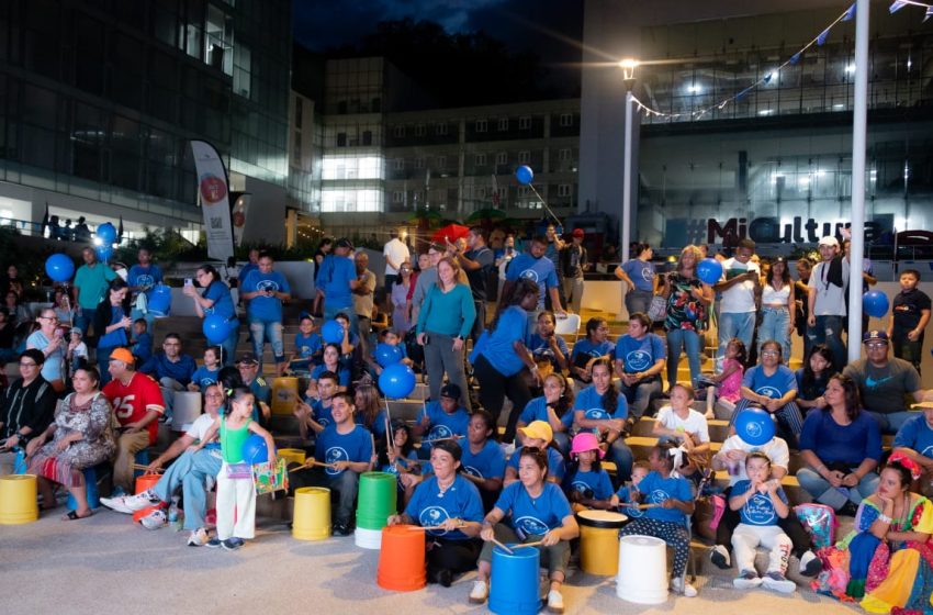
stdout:
[(470, 394), (463, 371), (463, 342), (473, 329), (476, 308), (470, 287), (458, 282), (460, 265), (450, 257), (437, 264), (437, 284), (428, 291), (418, 312), (418, 344), (425, 347), (425, 364), (432, 400), (440, 399), (443, 374), (460, 387), (460, 404), (469, 412)]

